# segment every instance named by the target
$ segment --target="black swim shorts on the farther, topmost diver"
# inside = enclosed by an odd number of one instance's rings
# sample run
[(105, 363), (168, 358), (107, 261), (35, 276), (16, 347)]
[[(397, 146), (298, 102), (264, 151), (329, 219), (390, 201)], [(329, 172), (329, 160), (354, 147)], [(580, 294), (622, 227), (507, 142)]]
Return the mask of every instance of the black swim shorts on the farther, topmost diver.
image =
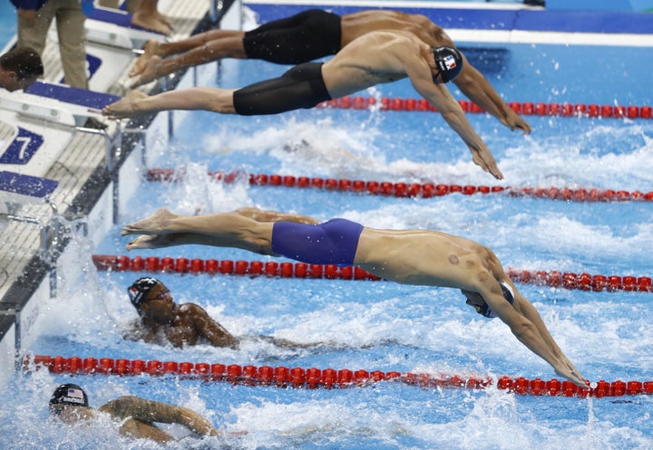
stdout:
[(298, 64), (336, 54), (341, 34), (338, 14), (309, 9), (245, 33), (243, 45), (249, 59)]

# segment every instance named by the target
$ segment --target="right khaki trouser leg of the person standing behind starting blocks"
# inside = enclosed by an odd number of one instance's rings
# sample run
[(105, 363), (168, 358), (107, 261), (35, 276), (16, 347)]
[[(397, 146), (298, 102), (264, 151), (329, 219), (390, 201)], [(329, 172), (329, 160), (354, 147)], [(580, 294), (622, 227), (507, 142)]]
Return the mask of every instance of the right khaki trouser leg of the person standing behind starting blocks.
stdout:
[(78, 0), (50, 0), (48, 3), (59, 4), (56, 24), (65, 82), (75, 88), (88, 89), (86, 14), (82, 12), (82, 5)]

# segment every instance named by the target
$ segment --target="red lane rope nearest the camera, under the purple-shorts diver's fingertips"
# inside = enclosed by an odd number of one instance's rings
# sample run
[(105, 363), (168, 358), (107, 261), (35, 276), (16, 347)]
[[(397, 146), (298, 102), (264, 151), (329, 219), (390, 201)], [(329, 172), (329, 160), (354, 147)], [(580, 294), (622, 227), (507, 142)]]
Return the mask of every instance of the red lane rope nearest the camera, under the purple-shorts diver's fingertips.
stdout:
[(63, 358), (62, 356), (35, 355), (24, 357), (23, 369), (29, 371), (47, 369), (52, 373), (71, 373), (80, 375), (116, 376), (180, 376), (197, 378), (203, 381), (226, 381), (247, 386), (275, 386), (279, 388), (356, 388), (365, 387), (379, 381), (401, 382), (420, 388), (471, 388), (483, 389), (496, 384), (502, 390), (521, 395), (558, 397), (621, 397), (624, 395), (651, 395), (653, 381), (621, 380), (608, 382), (599, 380), (596, 386), (581, 389), (568, 380), (557, 378), (502, 377), (463, 378), (453, 376), (434, 376), (424, 373), (400, 373), (381, 370), (287, 368), (271, 366), (239, 366), (238, 364), (209, 364), (206, 362), (176, 362), (142, 359), (112, 358)]

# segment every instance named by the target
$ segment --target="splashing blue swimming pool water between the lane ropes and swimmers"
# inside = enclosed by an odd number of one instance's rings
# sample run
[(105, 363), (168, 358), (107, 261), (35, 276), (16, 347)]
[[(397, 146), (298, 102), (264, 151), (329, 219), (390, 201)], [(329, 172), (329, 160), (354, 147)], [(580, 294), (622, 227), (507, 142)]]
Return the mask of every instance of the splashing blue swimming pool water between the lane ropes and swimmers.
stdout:
[[(472, 52), (505, 63), (486, 76), (507, 101), (650, 105), (648, 49), (504, 46)], [(642, 63), (623, 62), (628, 56)], [(483, 61), (479, 58), (483, 58)], [(492, 64), (490, 64), (492, 65)], [(486, 64), (486, 69), (492, 69)], [(648, 66), (648, 67), (647, 67)], [(239, 64), (238, 86), (284, 71)], [(589, 72), (605, 73), (590, 77)], [(595, 81), (599, 78), (599, 81)], [(636, 80), (636, 81), (631, 81)], [(453, 91), (455, 91), (453, 89)], [(409, 83), (371, 95), (415, 98)], [(458, 94), (456, 94), (458, 95)], [(306, 110), (278, 117), (193, 113), (171, 148), (150, 155), (159, 167), (184, 167), (180, 183), (143, 182), (119, 225), (99, 248), (81, 237), (83, 282), (61, 280), (60, 295), (38, 324), (34, 354), (254, 364), (321, 369), (381, 369), (500, 377), (554, 378), (552, 369), (499, 321), (464, 305), (460, 292), (389, 282), (161, 274), (178, 302), (198, 302), (225, 328), (248, 337), (242, 349), (172, 349), (122, 340), (136, 318), (126, 288), (141, 273), (96, 273), (91, 254), (122, 254), (120, 227), (160, 206), (184, 214), (259, 206), (320, 219), (345, 216), (386, 228), (433, 228), (488, 244), (505, 266), (528, 270), (650, 276), (653, 229), (646, 202), (574, 203), (505, 195), (395, 198), (285, 187), (223, 184), (207, 170), (366, 180), (433, 181), (486, 186), (599, 187), (650, 190), (653, 122), (528, 117), (531, 136), (468, 115), (506, 179), (475, 167), (462, 141), (434, 113)], [(200, 246), (143, 256), (267, 260)], [(134, 256), (135, 254), (132, 254)], [(651, 379), (650, 293), (580, 292), (520, 284), (551, 334), (591, 380)], [(269, 335), (325, 342), (279, 349)], [(497, 389), (427, 389), (396, 383), (368, 388), (280, 389), (177, 378), (20, 375), (0, 407), (0, 446), (20, 448), (156, 448), (115, 436), (110, 426), (62, 427), (46, 420), (57, 383), (87, 388), (91, 404), (122, 394), (192, 407), (219, 427), (245, 436), (186, 440), (177, 448), (640, 448), (653, 445), (651, 398), (517, 396)], [(39, 425), (36, 425), (39, 424)], [(43, 424), (43, 425), (40, 425)], [(106, 444), (107, 440), (111, 444)]]

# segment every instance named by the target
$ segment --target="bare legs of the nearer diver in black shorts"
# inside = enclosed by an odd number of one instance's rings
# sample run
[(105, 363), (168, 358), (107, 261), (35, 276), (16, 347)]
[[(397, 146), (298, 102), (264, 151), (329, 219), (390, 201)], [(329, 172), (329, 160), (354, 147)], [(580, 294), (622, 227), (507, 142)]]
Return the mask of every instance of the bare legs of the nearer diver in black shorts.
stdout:
[(110, 119), (125, 119), (162, 110), (209, 110), (234, 114), (233, 89), (188, 88), (148, 96), (132, 91), (123, 99), (102, 109)]

